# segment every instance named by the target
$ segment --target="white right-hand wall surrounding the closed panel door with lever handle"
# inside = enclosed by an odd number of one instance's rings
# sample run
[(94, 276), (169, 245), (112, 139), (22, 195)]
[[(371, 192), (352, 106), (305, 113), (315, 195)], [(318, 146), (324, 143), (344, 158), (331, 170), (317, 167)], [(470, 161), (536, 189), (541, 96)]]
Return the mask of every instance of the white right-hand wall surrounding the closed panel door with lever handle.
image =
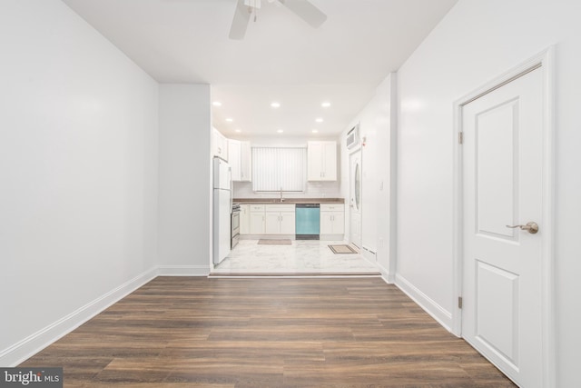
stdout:
[(558, 386), (578, 384), (581, 2), (460, 0), (399, 69), (398, 284), (450, 324), (455, 100), (556, 45)]

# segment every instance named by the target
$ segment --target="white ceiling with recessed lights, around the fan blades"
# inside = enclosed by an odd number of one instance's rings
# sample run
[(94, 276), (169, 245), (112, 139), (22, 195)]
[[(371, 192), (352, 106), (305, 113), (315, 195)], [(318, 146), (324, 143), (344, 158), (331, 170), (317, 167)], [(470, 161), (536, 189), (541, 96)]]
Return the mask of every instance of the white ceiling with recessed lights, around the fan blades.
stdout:
[(236, 0), (63, 1), (157, 81), (212, 85), (213, 125), (251, 138), (340, 134), (458, 0), (310, 0), (319, 29), (262, 1), (242, 41)]

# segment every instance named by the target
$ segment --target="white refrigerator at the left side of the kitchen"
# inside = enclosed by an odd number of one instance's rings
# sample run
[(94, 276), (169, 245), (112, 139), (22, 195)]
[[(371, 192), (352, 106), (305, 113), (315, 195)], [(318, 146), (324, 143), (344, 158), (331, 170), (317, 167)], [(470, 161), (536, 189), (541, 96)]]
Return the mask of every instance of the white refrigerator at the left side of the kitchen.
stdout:
[(230, 165), (214, 157), (213, 193), (213, 262), (220, 264), (230, 254), (232, 180)]

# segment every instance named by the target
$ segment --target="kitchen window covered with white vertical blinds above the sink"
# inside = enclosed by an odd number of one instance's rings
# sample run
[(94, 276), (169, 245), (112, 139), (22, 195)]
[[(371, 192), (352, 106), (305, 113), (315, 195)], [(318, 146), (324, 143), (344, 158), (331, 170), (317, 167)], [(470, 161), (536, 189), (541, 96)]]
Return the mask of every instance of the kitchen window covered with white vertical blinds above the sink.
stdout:
[(255, 192), (303, 192), (307, 149), (252, 148), (252, 190)]

